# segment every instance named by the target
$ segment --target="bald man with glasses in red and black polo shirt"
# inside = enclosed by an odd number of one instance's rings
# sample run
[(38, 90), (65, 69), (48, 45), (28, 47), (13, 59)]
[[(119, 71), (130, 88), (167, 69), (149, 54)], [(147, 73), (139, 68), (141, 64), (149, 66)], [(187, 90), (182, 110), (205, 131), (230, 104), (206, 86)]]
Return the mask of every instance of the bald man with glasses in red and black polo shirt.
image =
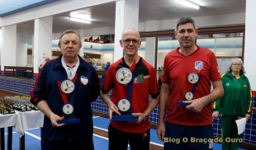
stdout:
[[(109, 107), (109, 119), (113, 113), (121, 115), (117, 108), (117, 102), (121, 100), (121, 93), (116, 86), (116, 71), (119, 68), (130, 68), (135, 59), (135, 79), (130, 96), (130, 105), (138, 116), (138, 121), (111, 121), (108, 127), (109, 149), (127, 150), (128, 141), (131, 150), (149, 150), (149, 113), (159, 104), (159, 88), (156, 81), (154, 68), (142, 59), (138, 54), (141, 40), (139, 32), (135, 29), (126, 29), (122, 33), (120, 45), (124, 49), (123, 58), (112, 63), (102, 85), (101, 96)], [(112, 88), (111, 99), (107, 92)], [(129, 85), (122, 86), (127, 93)], [(149, 94), (152, 100), (149, 102)], [(130, 110), (128, 110), (130, 111)]]

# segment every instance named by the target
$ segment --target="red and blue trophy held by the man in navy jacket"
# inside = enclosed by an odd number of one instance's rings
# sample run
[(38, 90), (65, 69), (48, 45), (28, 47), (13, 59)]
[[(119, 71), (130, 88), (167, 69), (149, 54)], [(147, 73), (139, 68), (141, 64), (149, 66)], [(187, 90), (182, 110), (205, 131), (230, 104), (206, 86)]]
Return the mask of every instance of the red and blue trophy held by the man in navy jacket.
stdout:
[[(73, 107), (73, 99), (75, 96), (76, 90), (76, 80), (77, 74), (73, 77), (72, 80), (64, 80), (63, 82), (58, 81), (59, 92), (64, 101), (64, 105), (62, 105), (62, 112), (64, 116), (64, 120), (58, 120), (58, 124), (78, 124), (80, 123), (80, 119), (76, 117), (74, 114)], [(70, 101), (68, 101), (68, 95), (70, 95)]]

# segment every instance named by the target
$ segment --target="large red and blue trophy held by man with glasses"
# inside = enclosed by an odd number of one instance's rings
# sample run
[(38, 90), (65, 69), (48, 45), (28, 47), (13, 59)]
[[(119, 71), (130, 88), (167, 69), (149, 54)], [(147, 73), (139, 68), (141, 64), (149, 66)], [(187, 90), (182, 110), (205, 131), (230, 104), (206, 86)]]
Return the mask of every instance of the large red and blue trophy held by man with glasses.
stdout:
[[(111, 121), (137, 121), (138, 117), (131, 115), (131, 89), (135, 79), (135, 60), (130, 68), (119, 68), (115, 73), (116, 87), (119, 91), (121, 99), (117, 102), (117, 107), (121, 111), (121, 115), (113, 115)], [(124, 86), (127, 85), (127, 93), (125, 95)]]

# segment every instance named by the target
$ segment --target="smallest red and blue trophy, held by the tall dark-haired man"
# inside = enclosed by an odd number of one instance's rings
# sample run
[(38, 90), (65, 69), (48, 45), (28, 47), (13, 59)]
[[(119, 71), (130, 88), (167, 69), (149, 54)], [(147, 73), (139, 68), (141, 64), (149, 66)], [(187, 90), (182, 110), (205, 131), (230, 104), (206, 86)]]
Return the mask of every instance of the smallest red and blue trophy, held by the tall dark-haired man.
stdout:
[[(200, 73), (187, 73), (187, 92), (185, 93), (184, 95), (184, 100), (183, 101), (190, 101), (190, 100), (193, 100), (194, 99), (194, 91), (197, 87), (197, 84), (201, 78), (201, 72), (202, 72), (202, 69), (200, 71)], [(192, 87), (192, 90), (190, 91), (190, 87), (191, 85), (193, 85)], [(190, 105), (190, 104), (187, 104), (187, 103), (184, 103), (183, 101), (178, 101), (178, 105), (184, 105), (184, 106), (187, 106), (187, 105)]]

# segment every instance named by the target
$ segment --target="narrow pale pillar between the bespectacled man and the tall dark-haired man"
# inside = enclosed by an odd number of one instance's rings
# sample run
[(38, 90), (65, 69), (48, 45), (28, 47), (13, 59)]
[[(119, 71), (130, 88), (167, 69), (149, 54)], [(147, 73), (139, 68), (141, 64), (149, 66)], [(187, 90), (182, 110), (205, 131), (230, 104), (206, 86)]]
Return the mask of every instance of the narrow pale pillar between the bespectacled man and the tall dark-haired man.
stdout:
[[(158, 21), (146, 21), (146, 31), (158, 30)], [(155, 37), (147, 37), (145, 41), (145, 61), (154, 67)]]

